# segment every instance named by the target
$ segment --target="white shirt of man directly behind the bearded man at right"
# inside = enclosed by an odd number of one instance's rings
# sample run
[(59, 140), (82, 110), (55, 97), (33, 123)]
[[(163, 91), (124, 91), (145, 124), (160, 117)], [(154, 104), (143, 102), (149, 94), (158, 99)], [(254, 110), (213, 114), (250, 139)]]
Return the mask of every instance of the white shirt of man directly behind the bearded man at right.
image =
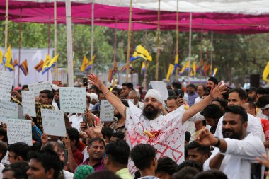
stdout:
[[(216, 132), (214, 132), (215, 137), (219, 137), (220, 139), (223, 138), (222, 136), (222, 121), (223, 116), (219, 119), (219, 122), (217, 123)], [(246, 128), (246, 133), (252, 133), (254, 136), (258, 137), (262, 141), (263, 139), (263, 127), (261, 126), (261, 120), (258, 120), (253, 115), (248, 114), (248, 127)]]

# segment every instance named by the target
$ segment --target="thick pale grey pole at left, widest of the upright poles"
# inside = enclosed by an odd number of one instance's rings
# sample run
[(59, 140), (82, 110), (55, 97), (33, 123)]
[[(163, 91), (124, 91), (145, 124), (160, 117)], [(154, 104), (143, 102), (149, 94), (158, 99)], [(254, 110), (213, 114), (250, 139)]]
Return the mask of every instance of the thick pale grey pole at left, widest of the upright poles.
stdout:
[(73, 69), (73, 47), (72, 47), (72, 23), (71, 23), (71, 1), (65, 1), (65, 10), (67, 18), (67, 62), (68, 62), (68, 86), (74, 87), (74, 69)]

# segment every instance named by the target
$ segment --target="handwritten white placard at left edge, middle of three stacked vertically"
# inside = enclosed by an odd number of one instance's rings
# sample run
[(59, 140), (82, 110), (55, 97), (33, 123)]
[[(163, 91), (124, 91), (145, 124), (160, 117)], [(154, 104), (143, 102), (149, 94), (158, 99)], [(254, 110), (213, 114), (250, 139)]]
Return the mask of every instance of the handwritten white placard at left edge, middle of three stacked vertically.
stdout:
[(18, 104), (0, 100), (0, 122), (6, 119), (18, 119)]

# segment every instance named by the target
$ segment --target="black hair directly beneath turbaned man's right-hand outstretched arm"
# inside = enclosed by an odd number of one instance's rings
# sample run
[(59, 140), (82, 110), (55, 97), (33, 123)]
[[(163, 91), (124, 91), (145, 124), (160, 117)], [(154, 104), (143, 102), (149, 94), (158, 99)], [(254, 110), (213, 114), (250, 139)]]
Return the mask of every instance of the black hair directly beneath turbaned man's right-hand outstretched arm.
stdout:
[(219, 120), (219, 118), (222, 117), (223, 115), (222, 109), (219, 108), (218, 105), (214, 104), (207, 105), (207, 107), (205, 107), (200, 113), (204, 117), (210, 117), (213, 118), (214, 120), (215, 119)]

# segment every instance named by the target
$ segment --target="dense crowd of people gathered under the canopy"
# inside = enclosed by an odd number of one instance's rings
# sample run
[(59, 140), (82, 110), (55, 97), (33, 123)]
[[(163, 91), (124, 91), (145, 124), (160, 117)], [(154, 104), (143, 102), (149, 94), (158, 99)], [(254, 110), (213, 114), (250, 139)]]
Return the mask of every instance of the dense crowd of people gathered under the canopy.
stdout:
[[(85, 84), (75, 83), (82, 87)], [(250, 179), (269, 168), (269, 88), (227, 88), (214, 77), (168, 84), (168, 98), (132, 83), (107, 86), (88, 75), (86, 110), (64, 113), (67, 137), (43, 132), (41, 109), (60, 110), (59, 86), (35, 98), (33, 146), (8, 143), (0, 127), (0, 178)], [(78, 87), (78, 88), (79, 88)], [(22, 105), (21, 91), (11, 102)], [(101, 100), (114, 107), (101, 122)]]

